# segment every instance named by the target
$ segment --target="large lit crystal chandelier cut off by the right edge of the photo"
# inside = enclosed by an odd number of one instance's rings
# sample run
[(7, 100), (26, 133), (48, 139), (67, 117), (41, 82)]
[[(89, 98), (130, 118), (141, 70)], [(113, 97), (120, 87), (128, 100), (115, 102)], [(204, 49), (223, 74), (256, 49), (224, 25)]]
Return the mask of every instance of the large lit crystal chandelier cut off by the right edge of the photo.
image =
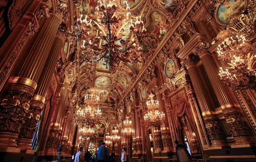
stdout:
[(245, 36), (230, 36), (230, 31), (222, 31), (217, 38), (223, 40), (216, 51), (218, 59), (226, 66), (225, 70), (220, 68), (221, 81), (236, 90), (256, 90), (256, 71), (252, 69), (256, 55)]

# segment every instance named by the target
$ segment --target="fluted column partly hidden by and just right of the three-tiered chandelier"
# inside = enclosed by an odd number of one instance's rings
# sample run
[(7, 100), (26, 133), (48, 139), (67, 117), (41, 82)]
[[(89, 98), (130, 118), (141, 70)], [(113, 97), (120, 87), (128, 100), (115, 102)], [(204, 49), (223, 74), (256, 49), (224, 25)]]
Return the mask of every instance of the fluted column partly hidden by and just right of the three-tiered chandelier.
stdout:
[[(156, 87), (156, 89), (158, 89)], [(169, 124), (167, 121), (167, 114), (164, 108), (164, 103), (163, 103), (163, 97), (160, 94), (160, 92), (158, 90), (155, 91), (156, 92), (156, 99), (159, 102), (159, 111), (163, 112), (166, 115), (166, 120), (165, 122), (161, 125), (160, 130), (161, 130), (161, 135), (162, 135), (162, 142), (163, 142), (163, 152), (171, 152), (172, 151), (172, 139), (171, 139), (171, 135), (170, 135), (170, 128), (169, 128)]]

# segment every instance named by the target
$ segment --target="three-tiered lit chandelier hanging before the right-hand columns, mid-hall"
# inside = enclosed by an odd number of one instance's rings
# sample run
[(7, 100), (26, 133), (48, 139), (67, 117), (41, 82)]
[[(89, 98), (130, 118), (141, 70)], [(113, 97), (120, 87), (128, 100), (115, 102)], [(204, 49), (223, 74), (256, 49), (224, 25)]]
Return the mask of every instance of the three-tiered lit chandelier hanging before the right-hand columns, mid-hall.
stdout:
[(163, 112), (159, 112), (159, 102), (154, 100), (154, 95), (150, 94), (148, 96), (150, 100), (147, 102), (148, 113), (145, 114), (144, 120), (148, 126), (158, 127), (165, 121), (165, 114)]

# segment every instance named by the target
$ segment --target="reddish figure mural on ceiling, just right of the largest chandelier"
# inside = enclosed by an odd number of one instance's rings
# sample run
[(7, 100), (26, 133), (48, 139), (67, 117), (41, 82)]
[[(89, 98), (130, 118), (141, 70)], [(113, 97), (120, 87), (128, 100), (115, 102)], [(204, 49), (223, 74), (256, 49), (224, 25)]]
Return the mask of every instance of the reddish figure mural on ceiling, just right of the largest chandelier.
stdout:
[(158, 11), (153, 11), (150, 15), (150, 24), (148, 25), (147, 32), (151, 39), (152, 45), (155, 47), (159, 44), (163, 36), (166, 34), (169, 25), (166, 17)]

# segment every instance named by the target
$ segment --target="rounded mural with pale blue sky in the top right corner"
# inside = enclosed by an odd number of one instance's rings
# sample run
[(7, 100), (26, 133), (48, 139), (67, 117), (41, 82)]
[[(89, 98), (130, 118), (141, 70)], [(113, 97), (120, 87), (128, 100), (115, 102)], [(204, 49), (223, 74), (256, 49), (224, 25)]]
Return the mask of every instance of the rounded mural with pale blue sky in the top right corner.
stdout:
[(227, 24), (231, 17), (245, 8), (244, 0), (225, 0), (218, 8), (218, 19)]

